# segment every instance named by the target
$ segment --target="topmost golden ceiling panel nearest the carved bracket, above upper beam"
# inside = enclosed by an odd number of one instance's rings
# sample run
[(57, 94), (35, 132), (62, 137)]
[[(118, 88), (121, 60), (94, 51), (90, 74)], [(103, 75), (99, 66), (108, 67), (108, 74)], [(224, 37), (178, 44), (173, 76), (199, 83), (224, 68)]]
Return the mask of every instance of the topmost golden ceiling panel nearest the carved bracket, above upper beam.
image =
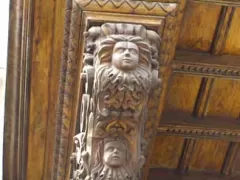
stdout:
[(221, 6), (189, 1), (178, 48), (209, 51), (220, 11)]

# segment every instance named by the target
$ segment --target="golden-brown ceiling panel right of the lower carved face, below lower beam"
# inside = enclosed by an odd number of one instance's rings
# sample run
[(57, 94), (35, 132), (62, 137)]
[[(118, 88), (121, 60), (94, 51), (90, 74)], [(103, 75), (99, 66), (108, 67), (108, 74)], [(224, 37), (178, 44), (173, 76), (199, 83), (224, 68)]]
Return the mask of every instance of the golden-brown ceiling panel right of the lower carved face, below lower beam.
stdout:
[(182, 153), (184, 138), (160, 136), (156, 138), (151, 166), (177, 168)]

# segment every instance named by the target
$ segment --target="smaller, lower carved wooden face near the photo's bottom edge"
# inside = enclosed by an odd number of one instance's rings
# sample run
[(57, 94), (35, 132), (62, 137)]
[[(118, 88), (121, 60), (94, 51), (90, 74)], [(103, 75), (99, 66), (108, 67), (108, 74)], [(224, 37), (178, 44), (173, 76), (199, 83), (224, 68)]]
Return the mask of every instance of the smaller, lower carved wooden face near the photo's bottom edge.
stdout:
[(104, 144), (103, 163), (110, 167), (123, 166), (126, 161), (126, 146), (119, 141)]

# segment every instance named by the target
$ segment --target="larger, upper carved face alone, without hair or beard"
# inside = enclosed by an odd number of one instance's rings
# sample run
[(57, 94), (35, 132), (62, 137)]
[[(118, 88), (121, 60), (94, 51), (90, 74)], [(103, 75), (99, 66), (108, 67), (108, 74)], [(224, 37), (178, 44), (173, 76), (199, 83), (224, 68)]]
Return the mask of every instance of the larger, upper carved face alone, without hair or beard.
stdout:
[(113, 48), (112, 65), (120, 70), (134, 70), (139, 61), (139, 49), (135, 43), (121, 41)]

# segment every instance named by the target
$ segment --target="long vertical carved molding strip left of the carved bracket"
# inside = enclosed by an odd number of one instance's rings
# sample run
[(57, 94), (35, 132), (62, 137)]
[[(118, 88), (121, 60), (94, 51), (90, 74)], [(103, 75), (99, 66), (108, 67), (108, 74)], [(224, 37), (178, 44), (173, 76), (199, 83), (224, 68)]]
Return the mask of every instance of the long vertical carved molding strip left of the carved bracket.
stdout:
[(72, 142), (70, 137), (73, 136), (75, 127), (75, 122), (72, 121), (72, 109), (74, 88), (76, 86), (75, 76), (78, 69), (77, 53), (79, 52), (80, 24), (81, 11), (75, 1), (67, 0), (52, 173), (52, 179), (54, 180), (65, 180), (69, 171), (69, 159), (71, 156), (69, 142)]

